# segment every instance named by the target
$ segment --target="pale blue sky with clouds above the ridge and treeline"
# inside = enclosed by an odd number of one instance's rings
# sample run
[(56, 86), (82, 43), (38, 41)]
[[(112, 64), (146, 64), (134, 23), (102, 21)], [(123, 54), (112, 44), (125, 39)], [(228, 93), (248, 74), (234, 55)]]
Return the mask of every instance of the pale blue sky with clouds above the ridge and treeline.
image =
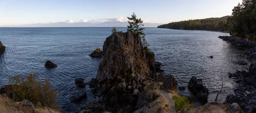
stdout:
[(127, 21), (170, 23), (231, 15), (242, 0), (0, 0), (0, 26)]

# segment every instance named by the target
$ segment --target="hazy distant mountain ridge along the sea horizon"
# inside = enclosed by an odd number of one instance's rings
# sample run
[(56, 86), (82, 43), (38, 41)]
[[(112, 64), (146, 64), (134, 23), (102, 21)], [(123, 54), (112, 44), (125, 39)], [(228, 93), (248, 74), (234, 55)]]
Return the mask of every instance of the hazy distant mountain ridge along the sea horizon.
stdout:
[[(143, 23), (144, 27), (157, 27), (161, 23)], [(14, 25), (14, 26), (0, 26), (0, 27), (127, 27), (128, 22), (103, 22), (103, 23), (67, 23), (67, 22), (57, 22), (57, 23), (33, 23), (24, 25)]]

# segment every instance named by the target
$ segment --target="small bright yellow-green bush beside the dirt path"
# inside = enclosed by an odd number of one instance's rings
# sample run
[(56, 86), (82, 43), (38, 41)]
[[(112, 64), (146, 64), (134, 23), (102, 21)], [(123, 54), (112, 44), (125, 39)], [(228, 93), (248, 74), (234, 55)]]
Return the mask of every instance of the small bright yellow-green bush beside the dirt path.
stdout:
[(177, 111), (179, 111), (182, 108), (187, 108), (189, 109), (189, 99), (187, 97), (184, 96), (173, 96), (174, 101), (174, 105)]

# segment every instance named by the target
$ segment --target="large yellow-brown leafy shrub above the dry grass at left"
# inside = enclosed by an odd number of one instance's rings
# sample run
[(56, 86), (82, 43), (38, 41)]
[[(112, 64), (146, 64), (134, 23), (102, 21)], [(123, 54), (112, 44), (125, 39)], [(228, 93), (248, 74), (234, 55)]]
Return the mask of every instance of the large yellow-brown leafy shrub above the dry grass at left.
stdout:
[(60, 110), (57, 104), (57, 93), (50, 88), (49, 78), (44, 79), (44, 83), (38, 81), (38, 74), (29, 74), (27, 78), (20, 75), (9, 78), (12, 85), (12, 92), (15, 93), (14, 101), (31, 101), (38, 107), (49, 107)]

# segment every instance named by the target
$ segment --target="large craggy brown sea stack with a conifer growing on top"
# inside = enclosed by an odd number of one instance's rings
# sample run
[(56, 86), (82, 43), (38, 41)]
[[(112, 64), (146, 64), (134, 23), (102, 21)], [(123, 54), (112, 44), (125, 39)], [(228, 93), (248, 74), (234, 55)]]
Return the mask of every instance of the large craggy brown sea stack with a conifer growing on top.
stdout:
[(160, 74), (158, 68), (160, 64), (155, 65), (154, 53), (143, 48), (139, 35), (113, 33), (104, 42), (98, 73), (90, 81), (93, 93), (99, 98), (76, 113), (148, 113), (151, 101), (159, 95), (151, 92), (154, 85), (145, 87), (147, 80), (165, 78), (164, 88), (176, 88), (174, 77)]

